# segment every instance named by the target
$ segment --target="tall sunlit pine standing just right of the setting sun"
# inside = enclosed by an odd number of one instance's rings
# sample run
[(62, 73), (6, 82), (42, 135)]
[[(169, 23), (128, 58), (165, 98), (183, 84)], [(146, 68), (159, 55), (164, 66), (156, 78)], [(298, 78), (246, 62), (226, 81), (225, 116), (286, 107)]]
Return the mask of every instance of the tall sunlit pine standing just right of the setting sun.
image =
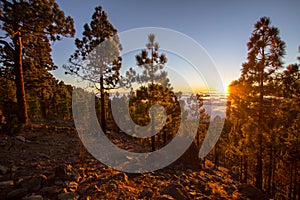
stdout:
[[(241, 78), (235, 82), (243, 93), (231, 93), (232, 115), (236, 113), (237, 129), (243, 134), (242, 146), (255, 152), (255, 186), (263, 186), (264, 144), (270, 142), (272, 114), (276, 100), (278, 70), (282, 68), (285, 43), (279, 37), (279, 30), (270, 26), (270, 19), (262, 17), (255, 25), (248, 42), (247, 62), (242, 65)], [(237, 90), (236, 90), (237, 91)], [(244, 119), (244, 120), (243, 120)], [(253, 148), (254, 145), (257, 148)]]

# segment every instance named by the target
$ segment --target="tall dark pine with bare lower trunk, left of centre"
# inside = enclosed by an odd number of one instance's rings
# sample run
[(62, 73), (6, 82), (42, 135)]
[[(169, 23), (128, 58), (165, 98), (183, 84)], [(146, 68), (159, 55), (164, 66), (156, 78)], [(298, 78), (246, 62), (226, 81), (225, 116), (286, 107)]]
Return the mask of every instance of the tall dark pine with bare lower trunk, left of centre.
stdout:
[(106, 132), (105, 92), (116, 88), (121, 68), (121, 45), (117, 30), (109, 22), (102, 7), (96, 7), (90, 24), (84, 25), (82, 39), (76, 39), (76, 51), (71, 65), (63, 66), (66, 73), (89, 81), (100, 91), (101, 127)]

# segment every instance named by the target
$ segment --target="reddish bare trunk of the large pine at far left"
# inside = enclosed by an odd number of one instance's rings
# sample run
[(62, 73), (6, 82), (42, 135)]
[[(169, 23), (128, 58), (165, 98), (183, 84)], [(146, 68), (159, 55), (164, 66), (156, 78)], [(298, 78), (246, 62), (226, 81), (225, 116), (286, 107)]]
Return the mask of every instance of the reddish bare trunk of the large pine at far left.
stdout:
[(23, 76), (23, 54), (22, 54), (22, 38), (21, 32), (18, 32), (13, 39), (15, 46), (15, 83), (16, 83), (16, 96), (18, 101), (18, 119), (19, 123), (22, 125), (28, 124), (28, 113), (24, 86), (24, 76)]

